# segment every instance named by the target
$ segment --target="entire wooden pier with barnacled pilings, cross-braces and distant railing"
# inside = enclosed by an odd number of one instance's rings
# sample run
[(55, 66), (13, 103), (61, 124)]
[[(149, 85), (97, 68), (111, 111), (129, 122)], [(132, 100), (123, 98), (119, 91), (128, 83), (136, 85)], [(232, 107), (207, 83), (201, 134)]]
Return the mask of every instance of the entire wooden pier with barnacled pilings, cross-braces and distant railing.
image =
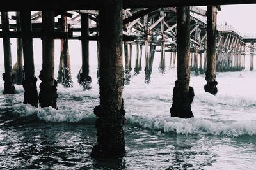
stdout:
[[(144, 71), (143, 81), (149, 84), (153, 64), (159, 64), (159, 74), (164, 74), (166, 57), (170, 57), (168, 67), (177, 68), (170, 115), (194, 117), (191, 71), (196, 76), (205, 74), (206, 84), (202, 88), (215, 95), (218, 92), (217, 71), (243, 70), (246, 55), (250, 55), (250, 70), (254, 69), (256, 36), (243, 35), (230, 25), (217, 25), (216, 22), (221, 5), (250, 3), (256, 1), (95, 0), (72, 4), (54, 1), (51, 5), (36, 2), (19, 6), (7, 2), (0, 7), (5, 69), (3, 94), (14, 94), (14, 84), (20, 85), (22, 80), (24, 104), (57, 109), (58, 83), (70, 88), (74, 81), (68, 41), (81, 41), (83, 63), (77, 81), (83, 90), (92, 88), (89, 41), (97, 41), (100, 103), (94, 109), (97, 144), (92, 149), (92, 157), (124, 157), (125, 101), (122, 92), (124, 86), (129, 85), (131, 74)], [(198, 7), (202, 5), (207, 5), (207, 11)], [(11, 12), (16, 13), (9, 16)], [(10, 24), (9, 19), (15, 20), (15, 24)], [(18, 42), (18, 60), (13, 69), (10, 38), (17, 38)], [(42, 39), (43, 48), (39, 93), (33, 38)], [(58, 76), (54, 75), (54, 39), (61, 39)], [(136, 50), (135, 56), (132, 56), (132, 49)], [(145, 56), (142, 56), (142, 50), (145, 50)], [(157, 52), (161, 53), (160, 63), (154, 62)], [(166, 52), (170, 52), (170, 56)], [(136, 61), (134, 64), (132, 57)], [(145, 60), (144, 68), (141, 60)]]

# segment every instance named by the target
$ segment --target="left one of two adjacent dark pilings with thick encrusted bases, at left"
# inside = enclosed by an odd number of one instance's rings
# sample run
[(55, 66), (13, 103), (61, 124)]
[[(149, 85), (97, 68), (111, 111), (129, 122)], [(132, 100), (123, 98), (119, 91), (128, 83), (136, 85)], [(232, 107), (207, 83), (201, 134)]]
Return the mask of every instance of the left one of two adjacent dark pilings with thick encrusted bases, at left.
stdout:
[[(31, 31), (31, 11), (20, 12), (20, 24), (22, 32)], [(22, 38), (23, 57), (24, 57), (24, 73), (25, 79), (22, 81), (24, 87), (24, 104), (28, 103), (32, 106), (38, 106), (38, 93), (34, 66), (33, 39), (24, 36)]]

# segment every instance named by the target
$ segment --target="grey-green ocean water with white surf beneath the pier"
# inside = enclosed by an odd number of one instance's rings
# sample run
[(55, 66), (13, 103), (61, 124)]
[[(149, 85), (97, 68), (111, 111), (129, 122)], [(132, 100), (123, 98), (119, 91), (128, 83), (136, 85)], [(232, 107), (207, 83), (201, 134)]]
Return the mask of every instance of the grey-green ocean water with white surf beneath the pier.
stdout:
[[(76, 49), (70, 48), (71, 56), (79, 53)], [(40, 52), (35, 51), (36, 60)], [(83, 91), (76, 79), (81, 59), (71, 58), (74, 87), (58, 85), (58, 110), (22, 104), (22, 86), (3, 95), (0, 80), (0, 169), (256, 169), (256, 71), (248, 71), (249, 57), (244, 71), (216, 74), (216, 96), (204, 92), (204, 75), (191, 72), (195, 118), (181, 119), (170, 117), (177, 70), (159, 73), (156, 55), (152, 83), (144, 84), (141, 71), (124, 87), (127, 153), (122, 159), (90, 157), (97, 142), (95, 65), (90, 67), (92, 90)], [(35, 68), (38, 77), (42, 66)], [(39, 92), (40, 80), (37, 85)]]

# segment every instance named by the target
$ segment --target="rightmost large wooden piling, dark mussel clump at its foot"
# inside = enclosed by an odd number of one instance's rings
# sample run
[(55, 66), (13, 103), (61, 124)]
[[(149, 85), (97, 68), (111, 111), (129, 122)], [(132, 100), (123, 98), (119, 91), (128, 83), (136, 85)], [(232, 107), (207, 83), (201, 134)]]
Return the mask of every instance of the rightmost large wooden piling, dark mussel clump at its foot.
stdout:
[(218, 84), (216, 79), (216, 6), (207, 6), (207, 71), (204, 86), (205, 92), (216, 94)]

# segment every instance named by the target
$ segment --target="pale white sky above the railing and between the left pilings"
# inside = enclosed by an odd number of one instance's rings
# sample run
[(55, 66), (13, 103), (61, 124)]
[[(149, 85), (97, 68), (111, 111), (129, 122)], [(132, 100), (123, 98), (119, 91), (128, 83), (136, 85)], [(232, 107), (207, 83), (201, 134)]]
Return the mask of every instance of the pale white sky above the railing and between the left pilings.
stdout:
[[(200, 8), (207, 9), (206, 6)], [(237, 31), (242, 34), (256, 34), (256, 4), (243, 5), (228, 5), (221, 6), (221, 11), (218, 11), (217, 24), (232, 25)], [(35, 64), (42, 63), (42, 43), (40, 39), (34, 39), (34, 57)], [(16, 40), (11, 39), (12, 43), (12, 64), (17, 60)], [(72, 40), (69, 41), (69, 52), (71, 64), (81, 65), (81, 42)], [(3, 41), (0, 40), (0, 49), (3, 47)], [(2, 48), (3, 49), (3, 48)], [(133, 47), (135, 49), (135, 46)], [(135, 50), (133, 50), (135, 51)], [(135, 52), (134, 52), (135, 53)], [(60, 56), (60, 40), (55, 41), (55, 62), (58, 64)], [(134, 56), (134, 55), (133, 55)], [(144, 56), (144, 54), (143, 54)], [(133, 57), (134, 58), (134, 57)], [(0, 63), (3, 63), (3, 50), (0, 50)], [(97, 46), (95, 41), (90, 41), (90, 64), (97, 64)]]

